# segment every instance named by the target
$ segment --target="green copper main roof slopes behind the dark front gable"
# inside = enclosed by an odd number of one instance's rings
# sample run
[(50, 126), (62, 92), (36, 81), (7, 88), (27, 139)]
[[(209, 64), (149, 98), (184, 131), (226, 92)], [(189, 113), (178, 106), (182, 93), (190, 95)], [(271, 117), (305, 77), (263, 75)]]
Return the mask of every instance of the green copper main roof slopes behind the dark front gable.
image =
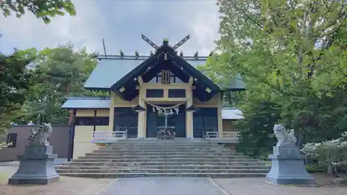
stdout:
[[(108, 90), (118, 80), (126, 76), (135, 69), (149, 56), (108, 56), (99, 60), (98, 65), (92, 71), (92, 74), (85, 82), (84, 87), (90, 90)], [(183, 57), (193, 67), (205, 65), (207, 57)], [(230, 79), (230, 82), (219, 83), (222, 89), (244, 89), (244, 83), (241, 80)]]

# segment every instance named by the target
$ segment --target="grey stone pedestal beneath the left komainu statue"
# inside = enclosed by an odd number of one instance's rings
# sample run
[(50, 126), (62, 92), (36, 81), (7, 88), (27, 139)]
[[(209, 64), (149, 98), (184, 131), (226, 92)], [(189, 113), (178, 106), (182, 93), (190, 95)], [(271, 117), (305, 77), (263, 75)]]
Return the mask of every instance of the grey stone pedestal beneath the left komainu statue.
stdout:
[(59, 180), (54, 169), (56, 154), (52, 154), (53, 146), (26, 146), (17, 172), (8, 179), (8, 184), (48, 184)]

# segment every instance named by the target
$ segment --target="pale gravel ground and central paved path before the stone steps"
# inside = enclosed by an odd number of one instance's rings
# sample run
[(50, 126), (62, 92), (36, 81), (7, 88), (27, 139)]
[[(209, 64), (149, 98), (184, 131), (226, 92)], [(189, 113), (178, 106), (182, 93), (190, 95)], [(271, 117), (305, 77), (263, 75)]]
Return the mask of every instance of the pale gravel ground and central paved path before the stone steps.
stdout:
[[(60, 177), (49, 185), (7, 185), (18, 167), (0, 166), (0, 195), (123, 195), (123, 194), (200, 194), (219, 195), (224, 189), (229, 195), (346, 195), (347, 187), (332, 185), (332, 178), (314, 175), (322, 187), (274, 186), (264, 178), (120, 178), (92, 179)], [(217, 185), (221, 187), (217, 187)], [(110, 185), (111, 184), (111, 185)], [(134, 187), (136, 186), (136, 187)], [(101, 190), (103, 189), (103, 190)], [(117, 191), (115, 191), (117, 190)], [(117, 192), (117, 194), (115, 194)], [(189, 194), (189, 195), (190, 195)]]

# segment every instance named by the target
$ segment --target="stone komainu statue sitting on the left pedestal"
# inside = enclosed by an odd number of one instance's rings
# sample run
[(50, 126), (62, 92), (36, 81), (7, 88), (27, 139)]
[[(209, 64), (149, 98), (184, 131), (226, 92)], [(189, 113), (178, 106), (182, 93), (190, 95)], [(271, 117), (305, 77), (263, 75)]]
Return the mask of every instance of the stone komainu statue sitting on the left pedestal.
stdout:
[(49, 146), (48, 138), (51, 134), (53, 128), (51, 124), (42, 124), (40, 125), (39, 130), (35, 131), (31, 128), (31, 135), (28, 137), (28, 141), (30, 144), (35, 145), (45, 145)]

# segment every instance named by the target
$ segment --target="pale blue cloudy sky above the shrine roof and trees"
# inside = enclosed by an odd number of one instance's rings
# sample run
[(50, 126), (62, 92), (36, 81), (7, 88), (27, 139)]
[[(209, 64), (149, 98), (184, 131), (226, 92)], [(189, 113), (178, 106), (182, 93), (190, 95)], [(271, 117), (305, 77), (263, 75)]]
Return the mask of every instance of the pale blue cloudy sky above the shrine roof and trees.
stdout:
[(105, 38), (108, 54), (123, 50), (133, 55), (135, 49), (148, 55), (152, 49), (141, 39), (143, 33), (156, 44), (168, 38), (174, 45), (187, 34), (190, 40), (180, 47), (185, 54), (198, 50), (208, 55), (214, 49), (219, 28), (215, 0), (73, 0), (76, 17), (56, 17), (44, 24), (31, 13), (21, 19), (0, 17), (0, 49), (53, 47), (71, 41), (75, 47), (103, 53)]

